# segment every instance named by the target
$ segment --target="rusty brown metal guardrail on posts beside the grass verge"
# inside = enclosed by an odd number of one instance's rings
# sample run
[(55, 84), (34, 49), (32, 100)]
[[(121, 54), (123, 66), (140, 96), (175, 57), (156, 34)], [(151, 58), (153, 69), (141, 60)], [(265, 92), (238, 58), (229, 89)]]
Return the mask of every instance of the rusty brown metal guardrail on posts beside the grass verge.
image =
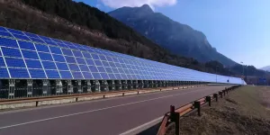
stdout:
[(208, 103), (209, 106), (211, 106), (211, 101), (215, 100), (218, 102), (219, 97), (222, 98), (226, 94), (229, 94), (232, 90), (235, 90), (241, 85), (234, 85), (229, 88), (225, 88), (224, 90), (221, 90), (218, 93), (207, 95), (201, 99), (195, 100), (193, 103), (185, 104), (182, 107), (179, 107), (175, 109), (175, 106), (170, 106), (170, 112), (166, 112), (164, 115), (163, 120), (161, 121), (161, 124), (159, 126), (159, 129), (157, 131), (157, 135), (165, 135), (167, 126), (170, 123), (175, 123), (175, 135), (180, 134), (180, 117), (188, 114), (189, 112), (197, 111), (197, 114), (201, 116), (201, 107), (203, 104)]

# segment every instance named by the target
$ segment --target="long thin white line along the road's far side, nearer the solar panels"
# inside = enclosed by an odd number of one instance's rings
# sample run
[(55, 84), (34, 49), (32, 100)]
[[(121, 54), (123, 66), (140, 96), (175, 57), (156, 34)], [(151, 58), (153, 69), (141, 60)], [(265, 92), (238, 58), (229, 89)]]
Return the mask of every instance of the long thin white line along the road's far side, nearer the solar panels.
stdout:
[[(196, 91), (199, 91), (199, 90), (187, 92), (187, 93), (184, 93), (184, 94), (189, 94), (189, 93), (193, 93), (193, 92), (196, 92)], [(54, 120), (54, 119), (59, 119), (59, 118), (65, 118), (65, 117), (75, 116), (75, 115), (84, 114), (84, 113), (98, 112), (98, 111), (103, 111), (103, 110), (107, 110), (107, 109), (117, 108), (117, 107), (121, 107), (121, 106), (127, 106), (127, 105), (135, 104), (135, 103), (145, 103), (145, 102), (149, 102), (149, 101), (153, 101), (153, 100), (158, 100), (158, 99), (162, 99), (162, 98), (167, 98), (167, 97), (173, 97), (173, 96), (177, 96), (177, 95), (181, 95), (181, 94), (166, 95), (166, 96), (161, 96), (161, 97), (152, 98), (152, 99), (148, 99), (148, 100), (142, 100), (142, 101), (134, 102), (134, 103), (124, 103), (124, 104), (115, 105), (115, 106), (111, 106), (111, 107), (100, 108), (100, 109), (96, 109), (96, 110), (90, 110), (90, 111), (85, 111), (85, 112), (76, 112), (76, 113), (71, 113), (71, 114), (57, 116), (57, 117), (51, 117), (51, 118), (47, 118), (47, 119), (41, 119), (41, 120), (37, 120), (37, 121), (28, 121), (28, 122), (18, 123), (18, 124), (14, 124), (14, 125), (0, 127), (0, 130), (8, 129), (8, 128), (13, 128), (13, 127), (17, 127), (17, 126), (22, 126), (22, 125), (26, 125), (26, 124), (31, 124), (31, 123), (35, 123), (35, 122), (40, 122), (40, 121), (49, 121), (49, 120)]]

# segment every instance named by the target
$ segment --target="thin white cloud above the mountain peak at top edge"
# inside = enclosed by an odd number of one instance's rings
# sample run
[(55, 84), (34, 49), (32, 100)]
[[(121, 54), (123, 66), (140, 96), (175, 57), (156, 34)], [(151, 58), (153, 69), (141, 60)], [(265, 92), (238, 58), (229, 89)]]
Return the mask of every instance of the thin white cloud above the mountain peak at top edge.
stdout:
[(148, 4), (150, 7), (161, 7), (174, 5), (177, 3), (177, 0), (100, 0), (104, 5), (112, 8), (120, 8), (122, 6), (141, 6), (143, 4)]

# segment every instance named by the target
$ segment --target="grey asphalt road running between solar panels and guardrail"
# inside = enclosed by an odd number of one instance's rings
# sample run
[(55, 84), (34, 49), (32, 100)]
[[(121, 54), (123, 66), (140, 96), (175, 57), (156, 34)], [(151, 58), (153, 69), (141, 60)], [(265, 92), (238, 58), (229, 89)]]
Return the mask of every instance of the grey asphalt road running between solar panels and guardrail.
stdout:
[(194, 87), (47, 106), (22, 111), (0, 112), (0, 135), (114, 135), (157, 119), (169, 111), (225, 85)]

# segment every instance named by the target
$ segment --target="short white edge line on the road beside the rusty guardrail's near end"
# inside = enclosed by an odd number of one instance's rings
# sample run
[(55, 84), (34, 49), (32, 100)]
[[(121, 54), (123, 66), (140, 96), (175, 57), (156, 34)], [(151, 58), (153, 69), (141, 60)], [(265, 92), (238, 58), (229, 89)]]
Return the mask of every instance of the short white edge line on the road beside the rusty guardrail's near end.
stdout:
[(138, 134), (139, 131), (141, 131), (142, 129), (143, 130), (146, 130), (148, 128), (150, 128), (150, 126), (153, 126), (155, 124), (157, 124), (159, 121), (162, 121), (164, 116), (160, 116), (158, 117), (157, 119), (155, 120), (152, 120), (152, 121), (148, 121), (147, 123), (144, 123), (134, 129), (131, 129), (131, 130), (127, 130), (125, 132), (122, 132), (120, 135), (131, 135), (131, 134)]

